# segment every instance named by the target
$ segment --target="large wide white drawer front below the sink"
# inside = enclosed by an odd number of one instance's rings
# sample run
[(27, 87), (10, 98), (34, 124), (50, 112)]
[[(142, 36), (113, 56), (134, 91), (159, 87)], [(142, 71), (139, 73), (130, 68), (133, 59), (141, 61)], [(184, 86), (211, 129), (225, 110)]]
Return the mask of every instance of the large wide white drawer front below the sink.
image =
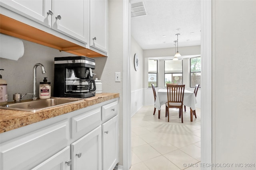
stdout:
[(0, 169), (30, 169), (68, 145), (68, 120), (1, 144)]

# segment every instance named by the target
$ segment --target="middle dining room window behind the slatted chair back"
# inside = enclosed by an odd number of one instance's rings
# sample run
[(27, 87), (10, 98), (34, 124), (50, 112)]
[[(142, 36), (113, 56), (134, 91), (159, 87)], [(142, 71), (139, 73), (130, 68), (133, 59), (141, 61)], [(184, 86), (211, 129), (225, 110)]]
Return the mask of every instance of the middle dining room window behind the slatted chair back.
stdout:
[(164, 87), (166, 83), (182, 84), (183, 67), (182, 60), (165, 60), (164, 61)]

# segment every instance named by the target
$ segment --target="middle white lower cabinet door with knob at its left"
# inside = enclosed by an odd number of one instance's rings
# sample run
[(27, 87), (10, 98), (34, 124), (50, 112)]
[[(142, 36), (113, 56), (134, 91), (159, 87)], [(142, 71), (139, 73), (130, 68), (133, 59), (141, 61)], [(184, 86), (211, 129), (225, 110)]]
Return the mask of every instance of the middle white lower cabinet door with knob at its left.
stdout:
[(101, 126), (71, 144), (72, 170), (101, 170)]

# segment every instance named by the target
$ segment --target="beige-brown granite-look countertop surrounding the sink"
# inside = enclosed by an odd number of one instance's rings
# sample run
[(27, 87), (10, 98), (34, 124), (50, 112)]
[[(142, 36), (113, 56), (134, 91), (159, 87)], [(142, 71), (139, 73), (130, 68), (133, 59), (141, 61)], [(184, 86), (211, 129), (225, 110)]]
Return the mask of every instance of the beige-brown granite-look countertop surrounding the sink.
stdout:
[(35, 113), (30, 111), (17, 111), (9, 109), (0, 109), (0, 133), (10, 131), (19, 127), (30, 125), (38, 121), (49, 119), (58, 115), (66, 114), (71, 111), (92, 106), (114, 98), (118, 98), (119, 93), (102, 93), (94, 97), (85, 98), (75, 104), (66, 104), (58, 107), (52, 107)]

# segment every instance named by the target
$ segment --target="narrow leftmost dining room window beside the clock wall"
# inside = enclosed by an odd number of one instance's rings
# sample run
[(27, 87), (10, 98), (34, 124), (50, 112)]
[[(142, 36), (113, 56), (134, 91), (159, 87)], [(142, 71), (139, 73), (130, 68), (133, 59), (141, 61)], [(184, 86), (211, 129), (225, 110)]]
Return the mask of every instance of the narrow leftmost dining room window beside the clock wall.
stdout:
[(148, 59), (148, 87), (157, 87), (157, 60)]

